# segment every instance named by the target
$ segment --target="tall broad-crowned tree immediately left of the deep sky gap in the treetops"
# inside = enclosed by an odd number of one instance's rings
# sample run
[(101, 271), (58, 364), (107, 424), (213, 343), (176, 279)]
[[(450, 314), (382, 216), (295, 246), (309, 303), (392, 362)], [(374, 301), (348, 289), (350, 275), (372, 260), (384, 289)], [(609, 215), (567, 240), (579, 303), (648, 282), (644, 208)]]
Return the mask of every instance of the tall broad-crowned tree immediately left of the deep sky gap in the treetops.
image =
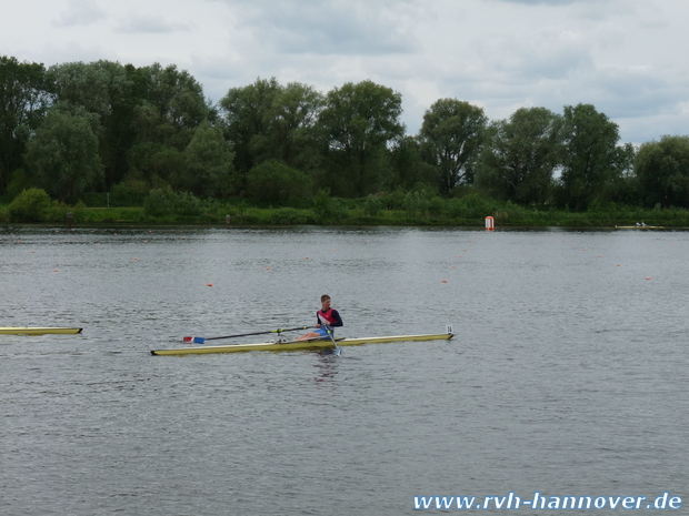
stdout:
[(330, 164), (339, 168), (357, 196), (378, 190), (387, 145), (405, 133), (402, 97), (372, 81), (348, 82), (326, 95), (320, 124)]

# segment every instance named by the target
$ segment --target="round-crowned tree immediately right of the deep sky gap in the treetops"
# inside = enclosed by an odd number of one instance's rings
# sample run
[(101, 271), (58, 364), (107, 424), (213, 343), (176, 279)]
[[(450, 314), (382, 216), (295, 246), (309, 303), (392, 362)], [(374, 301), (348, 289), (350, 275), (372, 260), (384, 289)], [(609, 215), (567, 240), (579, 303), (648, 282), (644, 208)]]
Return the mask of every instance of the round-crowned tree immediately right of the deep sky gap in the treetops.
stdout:
[(449, 194), (473, 181), (473, 162), (483, 141), (488, 118), (483, 109), (457, 99), (440, 99), (423, 114), (419, 136), (426, 159), (436, 166), (440, 191)]

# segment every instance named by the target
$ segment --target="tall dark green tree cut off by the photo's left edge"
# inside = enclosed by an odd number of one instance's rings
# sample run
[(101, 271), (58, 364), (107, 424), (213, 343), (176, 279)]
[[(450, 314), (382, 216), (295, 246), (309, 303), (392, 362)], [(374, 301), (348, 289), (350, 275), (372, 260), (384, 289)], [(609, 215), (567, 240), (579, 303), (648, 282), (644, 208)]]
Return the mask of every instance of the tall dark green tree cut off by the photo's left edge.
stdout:
[(0, 194), (50, 105), (46, 68), (0, 55)]

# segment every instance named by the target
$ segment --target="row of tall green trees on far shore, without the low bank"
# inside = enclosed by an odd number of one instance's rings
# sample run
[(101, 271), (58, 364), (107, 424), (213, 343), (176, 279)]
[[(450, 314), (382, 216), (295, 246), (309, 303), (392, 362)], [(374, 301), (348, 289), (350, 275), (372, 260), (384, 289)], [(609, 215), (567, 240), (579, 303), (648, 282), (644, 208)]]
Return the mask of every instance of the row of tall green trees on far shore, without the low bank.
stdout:
[(480, 192), (576, 211), (592, 202), (689, 208), (689, 136), (635, 149), (591, 104), (483, 109), (439, 99), (418, 134), (401, 94), (372, 81), (322, 93), (272, 79), (230, 88), (216, 104), (176, 65), (0, 57), (0, 196), (29, 188), (76, 201), (152, 190), (268, 203), (318, 192), (363, 198)]

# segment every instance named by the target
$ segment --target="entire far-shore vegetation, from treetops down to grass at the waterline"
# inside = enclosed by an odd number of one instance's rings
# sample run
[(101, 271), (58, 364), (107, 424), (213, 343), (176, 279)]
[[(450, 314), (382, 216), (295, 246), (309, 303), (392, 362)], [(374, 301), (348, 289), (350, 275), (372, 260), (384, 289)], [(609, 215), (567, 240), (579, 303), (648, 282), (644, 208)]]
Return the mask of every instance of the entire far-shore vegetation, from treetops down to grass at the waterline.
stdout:
[(689, 135), (622, 143), (592, 104), (442, 98), (410, 134), (371, 80), (212, 103), (174, 64), (0, 55), (0, 224), (689, 226)]

